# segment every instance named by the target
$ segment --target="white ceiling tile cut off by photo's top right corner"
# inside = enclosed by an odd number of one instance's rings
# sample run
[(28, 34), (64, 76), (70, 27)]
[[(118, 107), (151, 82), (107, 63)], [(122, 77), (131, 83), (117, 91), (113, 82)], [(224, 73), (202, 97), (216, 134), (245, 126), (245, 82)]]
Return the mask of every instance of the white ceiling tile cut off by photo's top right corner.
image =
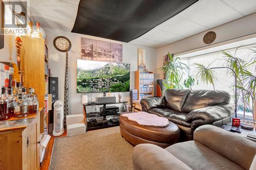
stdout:
[(249, 15), (256, 12), (256, 1), (255, 0), (222, 0), (234, 9), (240, 11), (244, 15)]

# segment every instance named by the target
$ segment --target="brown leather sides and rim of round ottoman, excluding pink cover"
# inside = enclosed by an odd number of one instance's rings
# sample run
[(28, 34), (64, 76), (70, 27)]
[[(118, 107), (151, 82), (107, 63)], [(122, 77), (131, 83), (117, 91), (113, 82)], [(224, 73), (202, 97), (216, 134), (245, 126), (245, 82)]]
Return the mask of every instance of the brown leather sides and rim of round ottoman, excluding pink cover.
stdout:
[(177, 143), (180, 137), (178, 126), (172, 122), (164, 128), (141, 126), (136, 122), (123, 117), (122, 114), (133, 112), (123, 112), (119, 116), (120, 133), (127, 141), (133, 145), (141, 143), (156, 144), (161, 148)]

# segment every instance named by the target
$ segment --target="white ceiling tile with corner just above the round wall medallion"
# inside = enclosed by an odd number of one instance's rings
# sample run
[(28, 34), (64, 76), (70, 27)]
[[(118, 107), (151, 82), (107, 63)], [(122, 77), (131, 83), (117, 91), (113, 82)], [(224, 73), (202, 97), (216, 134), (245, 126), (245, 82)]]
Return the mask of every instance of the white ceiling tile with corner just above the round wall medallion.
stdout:
[(156, 29), (188, 37), (208, 28), (176, 15), (161, 23)]

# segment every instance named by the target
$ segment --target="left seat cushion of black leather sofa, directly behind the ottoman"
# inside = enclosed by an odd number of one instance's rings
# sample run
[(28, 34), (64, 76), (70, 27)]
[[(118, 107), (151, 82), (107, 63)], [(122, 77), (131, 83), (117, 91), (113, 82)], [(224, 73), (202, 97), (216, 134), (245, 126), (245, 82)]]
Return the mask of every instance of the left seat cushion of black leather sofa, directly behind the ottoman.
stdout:
[(186, 127), (190, 127), (190, 123), (185, 121), (186, 115), (188, 113), (178, 112), (172, 109), (160, 109), (160, 108), (152, 108), (147, 111), (148, 113), (156, 114), (158, 116), (166, 117), (175, 124), (183, 125)]

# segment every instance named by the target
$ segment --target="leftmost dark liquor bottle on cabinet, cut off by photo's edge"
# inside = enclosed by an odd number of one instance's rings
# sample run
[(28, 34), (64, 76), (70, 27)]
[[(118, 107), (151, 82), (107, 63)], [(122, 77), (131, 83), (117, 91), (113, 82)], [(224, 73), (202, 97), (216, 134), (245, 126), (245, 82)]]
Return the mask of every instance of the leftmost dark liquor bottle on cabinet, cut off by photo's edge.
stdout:
[(11, 118), (9, 113), (10, 103), (7, 95), (7, 88), (2, 87), (2, 94), (0, 99), (0, 120), (7, 120)]

